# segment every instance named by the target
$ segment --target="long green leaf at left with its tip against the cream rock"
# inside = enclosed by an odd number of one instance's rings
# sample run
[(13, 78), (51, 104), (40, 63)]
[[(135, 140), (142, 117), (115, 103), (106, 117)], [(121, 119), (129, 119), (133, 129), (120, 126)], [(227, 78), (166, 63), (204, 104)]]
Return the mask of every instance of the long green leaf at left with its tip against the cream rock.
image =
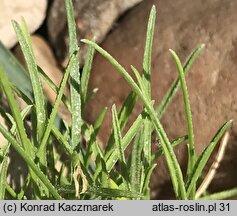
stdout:
[(21, 49), (25, 57), (28, 71), (30, 74), (31, 84), (32, 84), (33, 92), (34, 92), (38, 142), (40, 142), (43, 137), (43, 133), (45, 130), (45, 122), (46, 122), (45, 97), (43, 94), (43, 89), (42, 89), (42, 85), (39, 78), (37, 64), (35, 61), (34, 53), (32, 51), (30, 34), (27, 30), (26, 23), (23, 20), (22, 28), (21, 28), (17, 22), (13, 21), (13, 27), (15, 29), (17, 38), (21, 45)]

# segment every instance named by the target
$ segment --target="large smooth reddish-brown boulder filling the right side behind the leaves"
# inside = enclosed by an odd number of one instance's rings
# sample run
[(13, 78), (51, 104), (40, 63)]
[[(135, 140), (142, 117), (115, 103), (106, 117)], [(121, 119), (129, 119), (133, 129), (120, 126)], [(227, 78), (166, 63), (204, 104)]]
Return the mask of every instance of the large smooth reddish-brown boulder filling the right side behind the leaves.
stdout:
[[(102, 43), (103, 48), (128, 71), (131, 71), (131, 64), (140, 71), (142, 69), (146, 25), (153, 4), (157, 6), (158, 15), (152, 55), (152, 96), (156, 104), (159, 104), (177, 77), (169, 48), (175, 50), (184, 61), (198, 44), (206, 44), (187, 77), (196, 149), (200, 153), (221, 125), (234, 119), (226, 156), (210, 189), (220, 191), (236, 187), (237, 1), (178, 0), (174, 4), (173, 0), (147, 0), (141, 3), (123, 17), (117, 28)], [(99, 88), (85, 115), (90, 122), (95, 120), (100, 108), (107, 106), (110, 109), (113, 103), (121, 106), (131, 90), (101, 55), (95, 58), (90, 86)], [(139, 112), (140, 109), (136, 108), (134, 116)], [(171, 140), (187, 134), (180, 91), (169, 106), (162, 123)], [(104, 142), (110, 128), (111, 114), (108, 112), (100, 133)], [(179, 146), (176, 150), (185, 170), (186, 148)], [(167, 191), (171, 188), (164, 161), (158, 161), (152, 187), (156, 191), (156, 197), (167, 198)]]

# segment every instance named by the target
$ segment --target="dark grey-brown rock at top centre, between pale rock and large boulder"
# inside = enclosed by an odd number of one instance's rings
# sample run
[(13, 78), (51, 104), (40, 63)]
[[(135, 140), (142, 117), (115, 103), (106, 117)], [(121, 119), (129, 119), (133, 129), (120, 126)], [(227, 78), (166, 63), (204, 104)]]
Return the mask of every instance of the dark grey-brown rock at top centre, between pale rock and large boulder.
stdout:
[[(124, 11), (142, 0), (74, 0), (78, 39), (96, 37), (100, 43)], [(54, 1), (50, 8), (48, 23), (49, 39), (60, 62), (65, 62), (68, 32), (64, 0)], [(78, 41), (79, 41), (78, 40)], [(80, 43), (80, 62), (83, 64), (85, 46)]]

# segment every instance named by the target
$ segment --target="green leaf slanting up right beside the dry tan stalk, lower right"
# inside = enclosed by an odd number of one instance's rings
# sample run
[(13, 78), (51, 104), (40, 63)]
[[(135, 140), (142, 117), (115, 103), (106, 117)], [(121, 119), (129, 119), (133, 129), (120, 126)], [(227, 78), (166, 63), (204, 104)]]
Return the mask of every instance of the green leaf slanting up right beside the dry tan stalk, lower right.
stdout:
[(194, 165), (194, 168), (193, 168), (192, 172), (190, 173), (187, 184), (186, 184), (187, 195), (189, 195), (190, 192), (192, 191), (193, 185), (196, 184), (198, 178), (201, 176), (202, 171), (203, 171), (208, 159), (210, 158), (215, 146), (220, 141), (221, 137), (226, 132), (226, 130), (228, 130), (231, 127), (232, 122), (233, 122), (233, 120), (227, 121), (219, 129), (219, 131), (216, 133), (216, 135), (214, 136), (214, 138), (212, 139), (210, 144), (204, 149), (202, 154), (198, 157), (198, 159)]

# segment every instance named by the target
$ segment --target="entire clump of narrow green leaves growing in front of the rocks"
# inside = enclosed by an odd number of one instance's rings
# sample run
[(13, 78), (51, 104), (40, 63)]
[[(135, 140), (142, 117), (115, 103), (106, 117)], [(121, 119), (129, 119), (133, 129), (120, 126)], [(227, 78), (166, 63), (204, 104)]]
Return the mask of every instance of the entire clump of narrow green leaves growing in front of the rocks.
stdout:
[[(0, 109), (2, 117), (9, 126), (8, 130), (0, 125), (0, 132), (7, 141), (0, 149), (0, 199), (150, 199), (150, 178), (156, 166), (155, 161), (161, 155), (167, 161), (176, 198), (195, 199), (197, 182), (202, 176), (203, 168), (216, 144), (232, 123), (232, 121), (226, 122), (202, 154), (196, 155), (185, 75), (204, 45), (198, 46), (184, 65), (176, 53), (170, 50), (177, 65), (178, 78), (170, 86), (160, 105), (154, 108), (150, 77), (155, 7), (151, 9), (147, 26), (143, 74), (140, 75), (139, 71), (131, 66), (136, 77), (134, 80), (109, 53), (89, 40), (82, 40), (88, 45), (88, 53), (80, 76), (79, 48), (71, 0), (65, 0), (65, 5), (69, 28), (69, 62), (59, 87), (55, 86), (37, 66), (24, 21), (21, 26), (13, 22), (13, 27), (27, 63), (29, 76), (25, 75), (24, 69), (14, 57), (2, 45), (0, 46), (2, 58), (0, 85), (10, 108), (10, 113)], [(101, 110), (93, 125), (87, 124), (82, 118), (85, 104), (91, 96), (91, 93), (88, 93), (88, 80), (95, 51), (103, 55), (132, 88), (120, 111), (117, 111), (115, 105), (112, 107), (113, 130), (105, 149), (101, 149), (97, 137), (107, 109)], [(15, 73), (20, 76), (16, 77)], [(57, 93), (51, 109), (47, 106), (41, 78), (45, 79)], [(70, 98), (64, 95), (67, 83), (70, 86)], [(160, 118), (180, 86), (188, 130), (187, 135), (171, 142)], [(16, 94), (27, 104), (22, 111), (15, 98)], [(143, 102), (144, 109), (122, 136), (137, 99)], [(58, 115), (61, 102), (71, 113), (70, 125), (63, 122)], [(27, 116), (30, 118), (26, 119)], [(29, 130), (30, 133), (27, 132)], [(157, 134), (161, 143), (161, 149), (156, 152), (151, 151), (153, 132)], [(174, 147), (186, 140), (189, 143), (188, 169), (183, 176)], [(83, 142), (86, 145), (83, 145)], [(128, 145), (132, 145), (132, 150), (126, 157), (124, 151)], [(16, 190), (7, 182), (10, 147), (13, 147), (26, 162), (28, 170), (24, 184)], [(61, 163), (59, 170), (55, 168), (58, 162)], [(115, 166), (116, 164), (119, 168)], [(28, 190), (30, 195), (26, 194)], [(213, 197), (226, 198), (233, 193), (236, 193), (236, 189)]]

